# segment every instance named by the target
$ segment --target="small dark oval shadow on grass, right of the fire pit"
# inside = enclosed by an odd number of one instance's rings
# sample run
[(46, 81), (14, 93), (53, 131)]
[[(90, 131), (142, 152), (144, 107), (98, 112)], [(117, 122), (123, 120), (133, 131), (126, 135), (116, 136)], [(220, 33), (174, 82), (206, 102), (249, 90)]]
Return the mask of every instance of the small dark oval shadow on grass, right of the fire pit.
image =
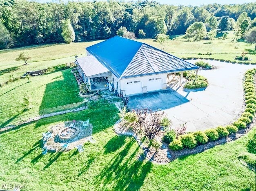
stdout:
[(118, 149), (120, 149), (125, 144), (126, 136), (114, 136), (111, 138), (107, 144), (104, 145), (105, 148), (104, 154), (112, 153)]

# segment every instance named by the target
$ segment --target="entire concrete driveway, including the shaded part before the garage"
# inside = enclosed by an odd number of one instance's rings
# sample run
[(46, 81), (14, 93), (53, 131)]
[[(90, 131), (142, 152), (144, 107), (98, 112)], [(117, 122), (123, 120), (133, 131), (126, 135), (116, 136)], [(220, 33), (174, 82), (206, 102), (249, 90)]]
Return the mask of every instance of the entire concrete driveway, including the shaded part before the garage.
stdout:
[[(196, 60), (189, 62), (194, 63)], [(165, 91), (135, 95), (130, 97), (128, 107), (147, 107), (153, 111), (161, 109), (172, 120), (173, 128), (187, 122), (189, 132), (229, 123), (242, 108), (243, 75), (254, 66), (214, 60), (208, 62), (217, 69), (198, 71), (209, 82), (205, 90), (184, 91), (182, 87), (173, 87)]]

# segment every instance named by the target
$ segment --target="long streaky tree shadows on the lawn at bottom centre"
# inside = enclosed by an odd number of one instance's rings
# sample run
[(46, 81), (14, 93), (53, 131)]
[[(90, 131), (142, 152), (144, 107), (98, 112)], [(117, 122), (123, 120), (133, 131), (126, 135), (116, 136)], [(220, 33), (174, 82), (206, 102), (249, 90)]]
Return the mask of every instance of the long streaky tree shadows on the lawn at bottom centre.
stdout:
[(144, 162), (135, 158), (139, 147), (133, 153), (129, 154), (129, 150), (134, 142), (135, 140), (131, 138), (125, 148), (116, 154), (109, 164), (99, 173), (95, 182), (97, 188), (106, 188), (111, 184), (111, 188), (107, 189), (140, 189), (152, 164), (149, 161)]

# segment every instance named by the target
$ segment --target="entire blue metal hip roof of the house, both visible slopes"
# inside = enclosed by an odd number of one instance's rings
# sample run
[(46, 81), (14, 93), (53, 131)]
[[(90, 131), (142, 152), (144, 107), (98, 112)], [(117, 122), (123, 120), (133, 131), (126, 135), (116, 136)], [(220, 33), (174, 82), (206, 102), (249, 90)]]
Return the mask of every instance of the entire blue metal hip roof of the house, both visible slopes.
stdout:
[(200, 69), (148, 44), (120, 36), (86, 49), (118, 78)]

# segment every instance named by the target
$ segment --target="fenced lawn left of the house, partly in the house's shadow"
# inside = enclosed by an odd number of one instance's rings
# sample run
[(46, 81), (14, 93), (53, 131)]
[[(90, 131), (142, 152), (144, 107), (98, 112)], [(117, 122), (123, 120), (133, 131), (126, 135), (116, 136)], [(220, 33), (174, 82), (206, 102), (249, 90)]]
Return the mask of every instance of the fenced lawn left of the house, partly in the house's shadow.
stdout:
[[(47, 75), (20, 79), (0, 87), (0, 127), (15, 122), (20, 115), (38, 114), (39, 110), (82, 101), (78, 84), (71, 69), (49, 73)], [(32, 108), (24, 111), (22, 98), (27, 93)]]

